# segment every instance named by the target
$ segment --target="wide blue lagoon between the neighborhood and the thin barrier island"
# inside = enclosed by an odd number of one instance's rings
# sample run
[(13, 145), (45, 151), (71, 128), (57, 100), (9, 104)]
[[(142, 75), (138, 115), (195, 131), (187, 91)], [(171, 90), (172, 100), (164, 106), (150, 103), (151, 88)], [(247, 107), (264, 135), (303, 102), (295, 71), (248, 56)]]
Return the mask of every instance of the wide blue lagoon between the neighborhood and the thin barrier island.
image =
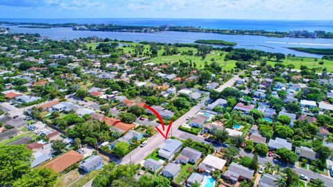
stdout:
[[(216, 33), (186, 33), (164, 31), (160, 33), (121, 33), (72, 30), (71, 28), (20, 28), (19, 26), (0, 25), (10, 28), (10, 33), (38, 33), (50, 39), (76, 39), (78, 37), (108, 37), (110, 39), (131, 40), (133, 42), (194, 43), (197, 39), (221, 39), (236, 42), (234, 48), (257, 49), (272, 53), (294, 54), (301, 57), (322, 57), (310, 53), (293, 51), (288, 47), (333, 48), (333, 39), (265, 37), (256, 35), (221, 35)], [(221, 47), (221, 46), (216, 46)]]

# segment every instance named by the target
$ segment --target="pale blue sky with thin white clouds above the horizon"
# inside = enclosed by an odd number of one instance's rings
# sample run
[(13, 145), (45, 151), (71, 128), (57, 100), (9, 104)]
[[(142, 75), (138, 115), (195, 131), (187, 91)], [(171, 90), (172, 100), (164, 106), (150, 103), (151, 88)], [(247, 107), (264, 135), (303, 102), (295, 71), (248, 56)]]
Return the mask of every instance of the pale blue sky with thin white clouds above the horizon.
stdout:
[(332, 0), (0, 0), (1, 18), (333, 19)]

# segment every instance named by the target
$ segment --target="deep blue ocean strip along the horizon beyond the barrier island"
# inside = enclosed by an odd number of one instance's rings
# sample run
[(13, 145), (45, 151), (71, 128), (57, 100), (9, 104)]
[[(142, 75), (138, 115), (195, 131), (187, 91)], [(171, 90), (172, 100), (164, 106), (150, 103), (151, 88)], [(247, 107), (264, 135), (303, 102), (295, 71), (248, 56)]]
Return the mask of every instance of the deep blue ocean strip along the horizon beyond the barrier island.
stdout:
[(1, 19), (11, 22), (35, 22), (48, 24), (119, 24), (135, 26), (196, 26), (203, 28), (229, 28), (244, 30), (326, 30), (333, 31), (333, 20), (250, 20), (250, 19), (152, 19), (152, 18), (99, 18), (99, 19)]

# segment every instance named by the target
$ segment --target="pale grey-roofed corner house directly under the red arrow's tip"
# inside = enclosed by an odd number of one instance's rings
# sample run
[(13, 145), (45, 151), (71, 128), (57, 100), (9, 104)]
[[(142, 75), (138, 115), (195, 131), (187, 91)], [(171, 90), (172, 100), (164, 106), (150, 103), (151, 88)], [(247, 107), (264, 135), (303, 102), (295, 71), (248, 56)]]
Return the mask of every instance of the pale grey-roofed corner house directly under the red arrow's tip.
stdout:
[(158, 150), (158, 156), (165, 159), (172, 159), (178, 150), (182, 147), (182, 142), (177, 139), (167, 139), (160, 145), (160, 150)]

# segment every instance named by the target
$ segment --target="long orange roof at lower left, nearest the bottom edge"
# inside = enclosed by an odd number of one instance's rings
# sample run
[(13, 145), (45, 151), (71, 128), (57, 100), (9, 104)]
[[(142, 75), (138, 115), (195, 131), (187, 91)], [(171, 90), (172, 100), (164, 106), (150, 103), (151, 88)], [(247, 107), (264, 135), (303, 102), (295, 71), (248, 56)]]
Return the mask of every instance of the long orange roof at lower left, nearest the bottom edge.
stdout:
[(75, 163), (78, 163), (83, 159), (83, 155), (78, 154), (74, 150), (70, 150), (65, 154), (60, 155), (56, 159), (53, 159), (49, 163), (46, 163), (43, 167), (51, 168), (56, 172), (63, 172), (70, 166), (73, 166)]

